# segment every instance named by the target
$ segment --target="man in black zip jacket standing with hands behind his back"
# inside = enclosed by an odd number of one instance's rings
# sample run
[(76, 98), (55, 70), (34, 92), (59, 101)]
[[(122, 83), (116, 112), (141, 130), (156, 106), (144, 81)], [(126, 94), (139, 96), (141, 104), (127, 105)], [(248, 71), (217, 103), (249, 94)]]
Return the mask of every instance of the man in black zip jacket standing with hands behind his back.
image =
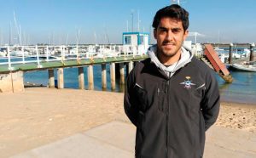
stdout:
[(189, 13), (177, 4), (154, 16), (157, 44), (127, 78), (125, 113), (137, 127), (136, 157), (199, 158), (218, 117), (218, 82), (183, 41)]

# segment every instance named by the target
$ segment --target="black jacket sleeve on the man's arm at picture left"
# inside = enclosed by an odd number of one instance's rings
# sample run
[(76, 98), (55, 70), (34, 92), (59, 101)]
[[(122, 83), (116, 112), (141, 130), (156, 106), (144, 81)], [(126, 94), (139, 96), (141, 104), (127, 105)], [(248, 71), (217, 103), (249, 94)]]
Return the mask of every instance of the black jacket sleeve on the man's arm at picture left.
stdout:
[(134, 85), (135, 85), (135, 76), (133, 69), (129, 76), (127, 77), (127, 82), (125, 85), (125, 99), (124, 99), (124, 108), (125, 114), (131, 120), (131, 122), (137, 126), (137, 116), (138, 116), (138, 108), (137, 108), (137, 99), (134, 93)]

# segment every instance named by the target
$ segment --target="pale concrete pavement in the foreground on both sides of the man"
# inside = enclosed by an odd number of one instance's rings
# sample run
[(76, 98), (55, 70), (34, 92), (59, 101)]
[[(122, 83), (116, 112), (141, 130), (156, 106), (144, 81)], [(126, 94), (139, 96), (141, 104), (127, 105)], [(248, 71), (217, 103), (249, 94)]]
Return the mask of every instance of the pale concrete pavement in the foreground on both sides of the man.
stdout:
[[(131, 158), (136, 128), (112, 121), (12, 158)], [(205, 158), (255, 158), (256, 133), (213, 126), (207, 131)]]

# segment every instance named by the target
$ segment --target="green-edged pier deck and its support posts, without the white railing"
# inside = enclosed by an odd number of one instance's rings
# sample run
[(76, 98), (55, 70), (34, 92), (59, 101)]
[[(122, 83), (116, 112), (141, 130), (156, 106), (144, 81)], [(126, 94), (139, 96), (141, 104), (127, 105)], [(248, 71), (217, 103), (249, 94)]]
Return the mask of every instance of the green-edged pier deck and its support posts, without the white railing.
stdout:
[[(88, 89), (94, 89), (94, 65), (102, 65), (102, 89), (107, 89), (107, 65), (110, 65), (110, 84), (111, 90), (115, 90), (116, 82), (116, 65), (119, 68), (118, 72), (120, 74), (120, 84), (125, 84), (125, 66), (126, 70), (129, 72), (132, 70), (134, 62), (147, 59), (148, 55), (125, 55), (118, 57), (108, 57), (108, 58), (90, 58), (90, 59), (73, 59), (73, 60), (59, 60), (59, 61), (40, 61), (40, 66), (38, 62), (26, 63), (26, 64), (15, 64), (15, 65), (0, 65), (0, 74), (12, 75), (17, 72), (22, 73), (20, 76), (20, 87), (23, 85), (23, 73), (28, 71), (43, 71), (48, 70), (49, 74), (49, 87), (57, 87), (59, 89), (64, 88), (64, 69), (68, 67), (78, 67), (78, 82), (79, 89), (84, 89), (84, 67), (87, 68), (87, 78), (88, 78)], [(10, 71), (11, 66), (11, 71)], [(55, 85), (54, 70), (57, 69), (57, 85)], [(0, 75), (1, 76), (1, 75)], [(4, 92), (4, 88), (0, 85), (0, 90)], [(23, 89), (21, 89), (23, 90)], [(10, 91), (10, 90), (8, 90)]]

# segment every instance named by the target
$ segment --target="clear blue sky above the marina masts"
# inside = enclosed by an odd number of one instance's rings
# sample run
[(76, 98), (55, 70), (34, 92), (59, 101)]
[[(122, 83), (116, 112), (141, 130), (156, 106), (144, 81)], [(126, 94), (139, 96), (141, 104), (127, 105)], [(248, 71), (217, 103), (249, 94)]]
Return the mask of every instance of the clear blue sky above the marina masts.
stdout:
[[(125, 31), (152, 32), (156, 11), (173, 2), (0, 0), (0, 3), (0, 44), (19, 43), (20, 32), (21, 43), (26, 45), (119, 44)], [(189, 12), (189, 31), (202, 35), (197, 42), (256, 42), (256, 0), (180, 0), (180, 5)], [(188, 40), (195, 42), (195, 37)]]

